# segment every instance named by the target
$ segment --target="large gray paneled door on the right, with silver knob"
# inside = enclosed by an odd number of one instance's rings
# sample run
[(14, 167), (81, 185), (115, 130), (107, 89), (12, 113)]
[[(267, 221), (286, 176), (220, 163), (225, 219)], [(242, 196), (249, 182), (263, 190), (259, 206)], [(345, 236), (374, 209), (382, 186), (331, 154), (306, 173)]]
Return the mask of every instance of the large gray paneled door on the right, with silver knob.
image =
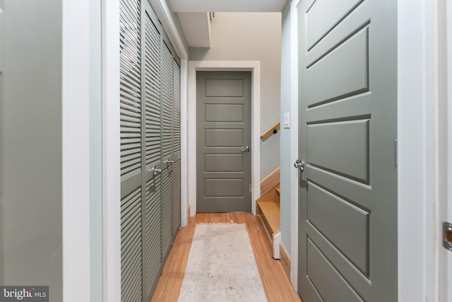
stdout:
[(396, 4), (298, 7), (304, 302), (398, 298)]

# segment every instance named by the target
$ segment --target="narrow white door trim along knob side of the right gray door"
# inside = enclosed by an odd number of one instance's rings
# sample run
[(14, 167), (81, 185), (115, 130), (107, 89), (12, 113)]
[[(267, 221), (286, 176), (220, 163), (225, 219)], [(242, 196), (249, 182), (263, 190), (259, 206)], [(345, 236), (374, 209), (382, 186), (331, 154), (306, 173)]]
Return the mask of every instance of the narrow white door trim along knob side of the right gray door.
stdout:
[[(290, 4), (290, 158), (298, 158), (298, 6)], [(290, 281), (298, 290), (298, 169), (290, 169)], [(295, 181), (293, 181), (295, 180)]]

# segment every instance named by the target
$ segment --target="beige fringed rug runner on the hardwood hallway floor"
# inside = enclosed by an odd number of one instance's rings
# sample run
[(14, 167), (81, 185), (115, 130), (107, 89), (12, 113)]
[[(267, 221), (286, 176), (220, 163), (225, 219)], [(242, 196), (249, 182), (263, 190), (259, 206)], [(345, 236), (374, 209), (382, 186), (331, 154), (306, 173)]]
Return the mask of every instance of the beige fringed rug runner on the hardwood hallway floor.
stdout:
[(196, 226), (178, 301), (267, 301), (245, 224)]

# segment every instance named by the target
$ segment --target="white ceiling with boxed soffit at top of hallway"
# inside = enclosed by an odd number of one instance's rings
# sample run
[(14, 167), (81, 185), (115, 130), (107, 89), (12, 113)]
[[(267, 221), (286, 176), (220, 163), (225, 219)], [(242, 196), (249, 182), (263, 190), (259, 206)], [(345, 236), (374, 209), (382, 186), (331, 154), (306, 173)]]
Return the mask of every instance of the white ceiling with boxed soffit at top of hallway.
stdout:
[(189, 47), (210, 47), (208, 12), (279, 12), (287, 0), (169, 0)]

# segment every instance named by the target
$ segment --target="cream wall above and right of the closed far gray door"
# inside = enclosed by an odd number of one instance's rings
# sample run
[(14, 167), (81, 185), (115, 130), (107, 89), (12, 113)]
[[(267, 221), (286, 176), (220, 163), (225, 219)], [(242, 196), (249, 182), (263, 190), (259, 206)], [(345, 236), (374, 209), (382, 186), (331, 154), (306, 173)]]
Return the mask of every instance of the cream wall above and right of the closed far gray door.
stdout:
[[(261, 131), (280, 120), (281, 13), (215, 13), (210, 48), (190, 48), (193, 61), (261, 62)], [(279, 134), (261, 142), (261, 179), (279, 167)]]

